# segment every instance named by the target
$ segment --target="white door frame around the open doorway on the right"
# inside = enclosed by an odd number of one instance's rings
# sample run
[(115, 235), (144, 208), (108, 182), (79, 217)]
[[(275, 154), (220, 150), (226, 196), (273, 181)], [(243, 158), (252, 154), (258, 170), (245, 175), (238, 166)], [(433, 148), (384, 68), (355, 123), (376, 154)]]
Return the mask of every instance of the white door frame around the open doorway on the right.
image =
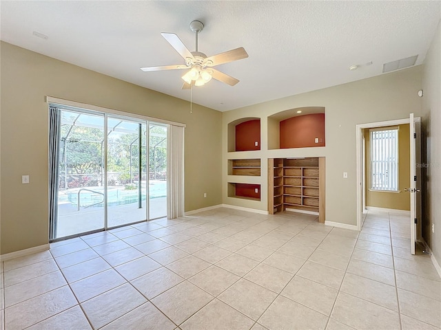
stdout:
[(357, 168), (357, 230), (361, 230), (362, 225), (362, 212), (363, 212), (363, 179), (362, 179), (362, 129), (373, 129), (376, 127), (383, 126), (396, 126), (402, 124), (410, 124), (410, 118), (396, 119), (396, 120), (385, 120), (383, 122), (368, 122), (366, 124), (356, 125), (356, 168)]

